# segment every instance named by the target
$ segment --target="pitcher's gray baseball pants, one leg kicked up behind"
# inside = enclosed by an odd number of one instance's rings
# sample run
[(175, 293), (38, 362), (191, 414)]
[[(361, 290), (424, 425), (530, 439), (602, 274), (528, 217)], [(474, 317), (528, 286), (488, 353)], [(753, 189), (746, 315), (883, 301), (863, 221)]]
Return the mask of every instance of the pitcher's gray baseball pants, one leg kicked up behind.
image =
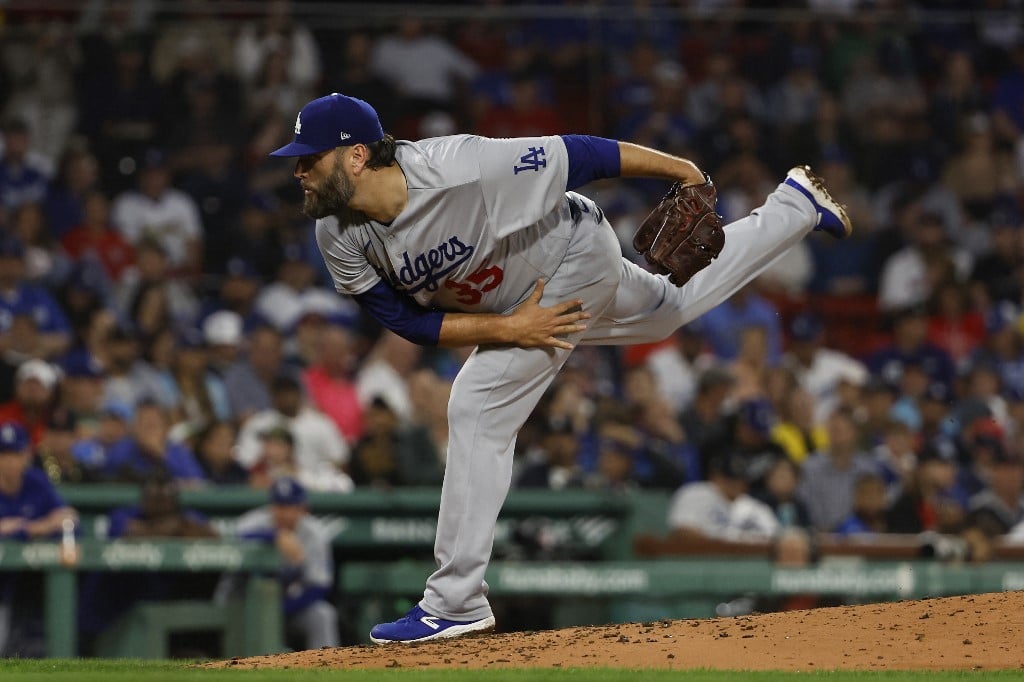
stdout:
[[(607, 221), (577, 227), (542, 303), (581, 298), (592, 315), (571, 343), (623, 345), (667, 338), (757, 276), (811, 230), (811, 203), (780, 184), (725, 227), (722, 254), (681, 288), (622, 257)], [(554, 348), (477, 348), (449, 400), (449, 451), (434, 558), (420, 606), (453, 621), (492, 614), (484, 571), (512, 479), (516, 434), (569, 355)]]

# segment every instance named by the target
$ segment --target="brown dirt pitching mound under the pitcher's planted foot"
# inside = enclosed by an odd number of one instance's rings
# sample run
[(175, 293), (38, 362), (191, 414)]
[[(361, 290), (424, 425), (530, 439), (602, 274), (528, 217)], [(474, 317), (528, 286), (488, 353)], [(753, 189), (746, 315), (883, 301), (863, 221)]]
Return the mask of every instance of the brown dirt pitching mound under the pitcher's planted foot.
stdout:
[(234, 668), (1024, 670), (1024, 592), (233, 658)]

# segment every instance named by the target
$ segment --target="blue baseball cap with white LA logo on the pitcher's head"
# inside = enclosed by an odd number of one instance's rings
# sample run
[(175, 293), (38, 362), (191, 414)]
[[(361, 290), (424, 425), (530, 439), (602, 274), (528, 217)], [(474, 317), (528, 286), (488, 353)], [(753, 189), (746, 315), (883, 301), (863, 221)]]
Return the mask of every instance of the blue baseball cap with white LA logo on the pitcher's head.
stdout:
[(357, 97), (332, 92), (302, 108), (295, 119), (295, 141), (270, 156), (303, 157), (383, 138), (384, 128), (373, 106)]

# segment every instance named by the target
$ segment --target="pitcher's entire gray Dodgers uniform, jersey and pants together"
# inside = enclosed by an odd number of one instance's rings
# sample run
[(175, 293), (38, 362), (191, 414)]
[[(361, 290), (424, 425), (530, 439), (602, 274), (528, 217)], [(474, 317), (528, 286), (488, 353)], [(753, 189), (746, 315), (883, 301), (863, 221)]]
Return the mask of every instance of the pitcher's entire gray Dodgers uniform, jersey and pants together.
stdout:
[[(677, 288), (623, 258), (600, 209), (565, 191), (561, 137), (402, 141), (396, 158), (409, 203), (391, 224), (316, 223), (338, 291), (359, 294), (383, 280), (424, 306), (507, 312), (544, 279), (543, 305), (579, 298), (593, 315), (585, 332), (566, 337), (570, 343), (664, 339), (757, 275), (816, 220), (811, 202), (782, 184), (728, 225), (721, 256)], [(428, 613), (454, 621), (492, 614), (484, 572), (516, 434), (570, 352), (488, 347), (460, 370), (449, 400), (437, 570), (420, 602)]]

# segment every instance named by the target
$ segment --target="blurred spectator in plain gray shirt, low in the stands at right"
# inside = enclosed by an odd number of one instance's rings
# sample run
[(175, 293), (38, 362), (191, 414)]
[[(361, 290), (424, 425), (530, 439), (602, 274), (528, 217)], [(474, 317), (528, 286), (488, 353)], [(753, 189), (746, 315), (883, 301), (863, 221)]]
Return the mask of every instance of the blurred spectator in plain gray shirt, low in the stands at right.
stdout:
[(828, 417), (828, 449), (804, 462), (798, 497), (818, 530), (831, 531), (853, 509), (853, 488), (862, 475), (876, 473), (870, 457), (858, 449), (857, 425), (848, 410)]

